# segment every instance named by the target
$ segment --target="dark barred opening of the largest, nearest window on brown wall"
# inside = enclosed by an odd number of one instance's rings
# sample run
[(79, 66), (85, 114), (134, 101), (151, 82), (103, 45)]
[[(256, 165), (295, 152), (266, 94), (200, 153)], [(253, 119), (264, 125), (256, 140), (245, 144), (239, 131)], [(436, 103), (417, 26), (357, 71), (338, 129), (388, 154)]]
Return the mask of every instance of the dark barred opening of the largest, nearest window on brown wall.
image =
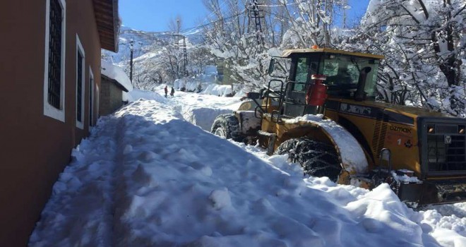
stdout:
[(49, 81), (47, 102), (60, 109), (61, 92), (61, 24), (59, 0), (50, 0), (49, 12)]

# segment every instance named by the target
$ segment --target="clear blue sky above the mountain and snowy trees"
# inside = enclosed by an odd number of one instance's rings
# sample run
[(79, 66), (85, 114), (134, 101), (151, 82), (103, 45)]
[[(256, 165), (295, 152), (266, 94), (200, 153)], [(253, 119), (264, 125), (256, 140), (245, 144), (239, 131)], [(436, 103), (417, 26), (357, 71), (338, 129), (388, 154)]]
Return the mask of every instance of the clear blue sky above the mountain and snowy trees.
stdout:
[[(368, 2), (369, 0), (348, 0), (348, 4), (352, 6), (348, 13), (348, 23), (351, 18), (362, 16)], [(208, 22), (205, 20), (208, 13), (202, 0), (120, 0), (119, 13), (123, 25), (143, 31), (167, 31), (169, 20), (177, 15), (183, 20), (181, 29)]]

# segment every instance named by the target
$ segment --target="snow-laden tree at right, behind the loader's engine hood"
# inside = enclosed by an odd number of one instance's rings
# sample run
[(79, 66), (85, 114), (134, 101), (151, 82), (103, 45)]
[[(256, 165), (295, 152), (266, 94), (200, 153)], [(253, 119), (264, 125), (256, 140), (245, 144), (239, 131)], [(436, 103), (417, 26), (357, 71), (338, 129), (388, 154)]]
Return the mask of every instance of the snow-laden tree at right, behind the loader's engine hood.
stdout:
[(370, 1), (353, 41), (386, 56), (383, 100), (464, 116), (465, 8), (462, 0)]

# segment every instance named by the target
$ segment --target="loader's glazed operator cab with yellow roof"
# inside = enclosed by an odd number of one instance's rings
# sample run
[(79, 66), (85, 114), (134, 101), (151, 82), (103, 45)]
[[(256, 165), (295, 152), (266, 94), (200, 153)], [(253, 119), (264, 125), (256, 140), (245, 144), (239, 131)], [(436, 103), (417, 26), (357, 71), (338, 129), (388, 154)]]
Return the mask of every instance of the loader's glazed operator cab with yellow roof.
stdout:
[(324, 75), (328, 98), (375, 100), (376, 78), (383, 56), (335, 49), (299, 49), (285, 52), (291, 59), (282, 114), (302, 116), (322, 113), (323, 107), (306, 104), (312, 75)]

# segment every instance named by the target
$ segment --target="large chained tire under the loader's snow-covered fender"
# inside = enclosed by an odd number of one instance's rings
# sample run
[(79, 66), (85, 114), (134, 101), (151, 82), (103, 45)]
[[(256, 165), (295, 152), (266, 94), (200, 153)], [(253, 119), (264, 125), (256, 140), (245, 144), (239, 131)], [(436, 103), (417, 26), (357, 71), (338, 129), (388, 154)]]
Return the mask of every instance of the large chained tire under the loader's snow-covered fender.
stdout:
[(275, 151), (277, 155), (288, 154), (291, 162), (298, 162), (304, 174), (310, 176), (328, 176), (336, 182), (342, 167), (335, 147), (309, 138), (285, 140)]

